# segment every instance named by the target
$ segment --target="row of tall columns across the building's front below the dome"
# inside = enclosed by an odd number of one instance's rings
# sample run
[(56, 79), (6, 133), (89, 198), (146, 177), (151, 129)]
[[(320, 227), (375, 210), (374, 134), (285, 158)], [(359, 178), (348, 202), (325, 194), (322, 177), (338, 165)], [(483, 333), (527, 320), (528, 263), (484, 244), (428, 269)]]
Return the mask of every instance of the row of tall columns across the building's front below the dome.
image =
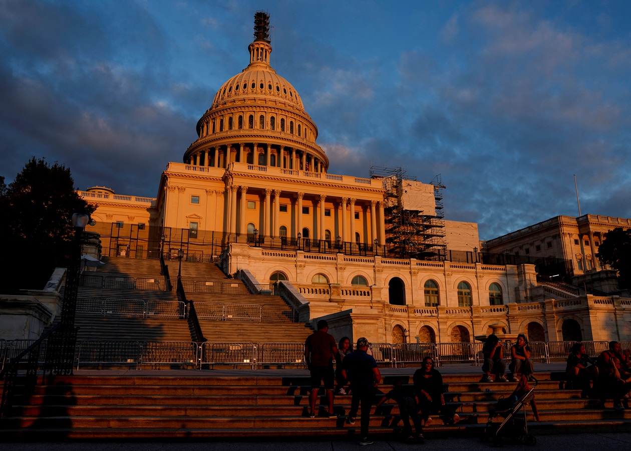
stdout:
[[(247, 234), (248, 222), (254, 223), (261, 217), (260, 212), (257, 215), (257, 220), (248, 220), (247, 218), (247, 193), (248, 186), (230, 184), (227, 189), (228, 193), (228, 212), (226, 213), (227, 231), (230, 234)], [(259, 233), (263, 237), (278, 238), (281, 236), (280, 227), (283, 225), (280, 222), (280, 205), (281, 205), (281, 191), (280, 189), (257, 189), (259, 193), (259, 201), (263, 208), (262, 219), (263, 224), (259, 224)], [(239, 193), (239, 194), (237, 194)], [(288, 236), (296, 238), (300, 233), (304, 238), (307, 238), (303, 233), (304, 215), (303, 207), (305, 195), (312, 203), (313, 217), (309, 226), (312, 226), (315, 230), (312, 236), (309, 238), (314, 240), (326, 239), (326, 230), (331, 231), (330, 239), (332, 241), (350, 241), (355, 242), (355, 233), (360, 232), (360, 242), (372, 243), (375, 239), (379, 244), (386, 242), (386, 229), (384, 223), (384, 201), (383, 200), (370, 200), (339, 197), (339, 196), (327, 196), (325, 194), (316, 193), (286, 193), (283, 198), (288, 200), (291, 204), (291, 209), (288, 212), (292, 212), (291, 217), (286, 227), (288, 229)], [(273, 198), (272, 198), (273, 196)], [(329, 201), (327, 201), (327, 197)], [(237, 206), (239, 206), (239, 217), (237, 217)], [(329, 207), (331, 215), (328, 221), (326, 220), (326, 210)], [(360, 207), (360, 211), (357, 211), (357, 207)], [(334, 215), (333, 212), (337, 214)], [(355, 219), (355, 213), (358, 214), (358, 219)], [(370, 224), (367, 222), (370, 221)], [(317, 227), (315, 227), (317, 224)], [(306, 227), (311, 230), (311, 227)], [(363, 233), (366, 231), (365, 233)], [(368, 234), (370, 233), (370, 241)], [(337, 236), (336, 236), (337, 234)]]

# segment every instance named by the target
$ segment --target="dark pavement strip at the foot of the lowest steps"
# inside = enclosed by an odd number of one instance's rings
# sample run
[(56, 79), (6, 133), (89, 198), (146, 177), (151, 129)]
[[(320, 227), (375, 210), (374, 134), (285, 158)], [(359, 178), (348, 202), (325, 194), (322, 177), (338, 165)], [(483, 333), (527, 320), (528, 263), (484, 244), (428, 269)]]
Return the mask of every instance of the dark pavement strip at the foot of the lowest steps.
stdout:
[[(346, 451), (360, 448), (373, 451), (406, 451), (419, 448), (432, 450), (490, 450), (489, 443), (477, 438), (431, 438), (423, 445), (390, 440), (375, 440), (373, 445), (360, 447), (356, 441), (339, 440), (323, 442), (120, 442), (120, 443), (0, 443), (0, 451)], [(576, 451), (577, 449), (631, 450), (631, 433), (598, 433), (578, 435), (541, 435), (533, 446), (524, 443), (505, 442), (506, 450)]]

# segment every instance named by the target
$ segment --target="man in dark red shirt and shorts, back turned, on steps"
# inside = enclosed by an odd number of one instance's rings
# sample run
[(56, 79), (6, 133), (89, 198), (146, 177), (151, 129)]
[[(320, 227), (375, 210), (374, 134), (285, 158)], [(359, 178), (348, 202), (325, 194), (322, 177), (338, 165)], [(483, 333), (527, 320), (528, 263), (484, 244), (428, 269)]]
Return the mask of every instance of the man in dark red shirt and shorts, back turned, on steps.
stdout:
[(333, 381), (335, 379), (333, 356), (338, 354), (338, 347), (333, 335), (327, 333), (328, 330), (329, 324), (325, 320), (320, 320), (317, 322), (317, 331), (305, 340), (305, 363), (311, 375), (311, 393), (309, 394), (311, 418), (315, 418), (315, 401), (321, 382), (324, 382), (326, 399), (329, 403), (329, 418), (337, 418), (333, 412)]

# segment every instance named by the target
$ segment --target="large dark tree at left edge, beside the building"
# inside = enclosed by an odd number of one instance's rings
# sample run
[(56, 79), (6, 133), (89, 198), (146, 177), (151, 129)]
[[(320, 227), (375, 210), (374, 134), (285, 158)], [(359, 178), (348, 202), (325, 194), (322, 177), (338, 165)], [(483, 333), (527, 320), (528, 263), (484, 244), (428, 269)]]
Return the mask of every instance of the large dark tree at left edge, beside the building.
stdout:
[(66, 267), (73, 213), (93, 212), (74, 191), (70, 169), (33, 157), (9, 186), (0, 183), (0, 231), (6, 243), (3, 292), (42, 289), (55, 267)]

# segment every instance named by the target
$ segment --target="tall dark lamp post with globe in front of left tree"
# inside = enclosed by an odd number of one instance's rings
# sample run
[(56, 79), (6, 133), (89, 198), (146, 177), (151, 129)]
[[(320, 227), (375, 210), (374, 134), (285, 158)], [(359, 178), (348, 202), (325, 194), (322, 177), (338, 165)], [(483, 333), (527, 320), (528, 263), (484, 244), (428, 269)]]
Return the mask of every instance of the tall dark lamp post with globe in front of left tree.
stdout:
[(66, 286), (61, 304), (61, 322), (55, 332), (50, 335), (48, 342), (50, 373), (55, 375), (71, 375), (73, 373), (74, 347), (77, 340), (74, 316), (81, 275), (81, 234), (83, 234), (85, 226), (93, 225), (94, 222), (90, 220), (88, 215), (74, 213), (72, 224), (74, 227), (73, 250), (66, 271)]

